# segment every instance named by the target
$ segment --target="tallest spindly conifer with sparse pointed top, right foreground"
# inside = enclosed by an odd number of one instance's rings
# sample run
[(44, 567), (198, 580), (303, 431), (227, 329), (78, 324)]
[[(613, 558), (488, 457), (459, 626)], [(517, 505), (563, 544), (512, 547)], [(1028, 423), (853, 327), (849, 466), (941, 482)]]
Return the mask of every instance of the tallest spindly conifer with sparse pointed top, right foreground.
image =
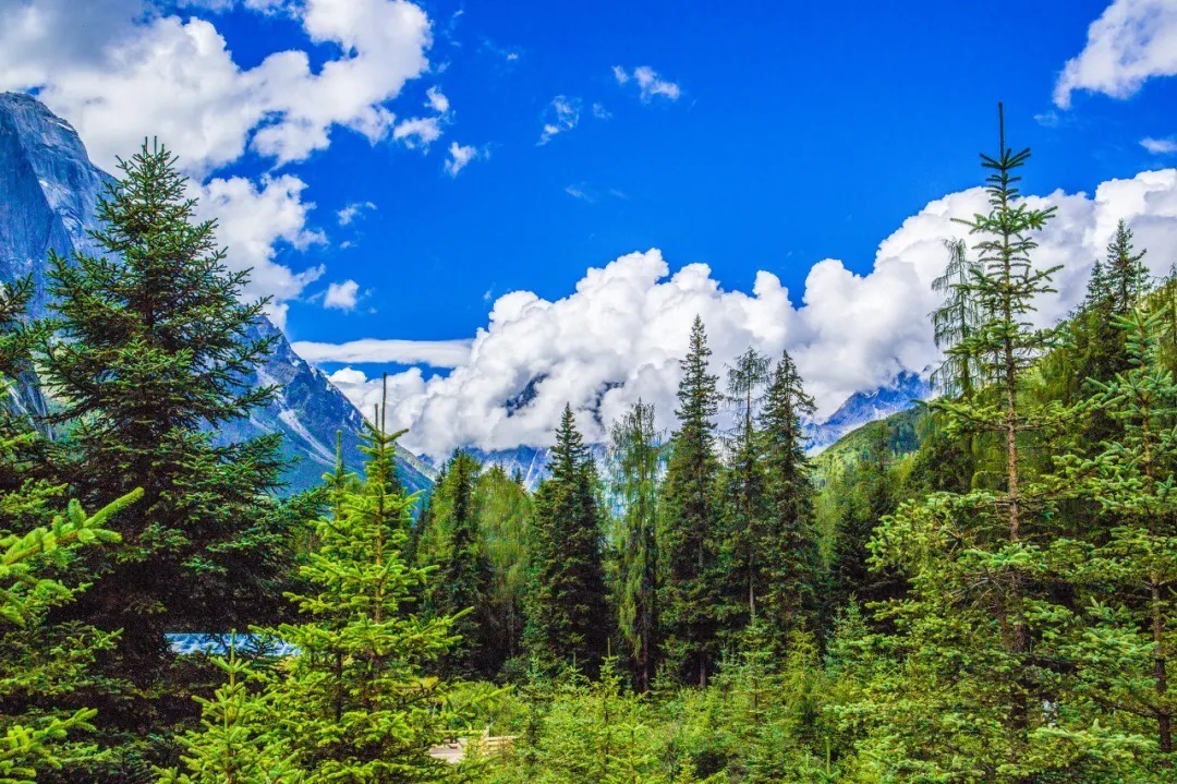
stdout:
[[(1028, 439), (1060, 421), (1056, 405), (1023, 394), (1028, 368), (1050, 346), (1028, 324), (1035, 299), (1051, 291), (1056, 268), (1035, 268), (1035, 234), (1051, 218), (1019, 197), (1029, 150), (983, 155), (990, 212), (967, 221), (980, 237), (983, 267), (970, 290), (985, 313), (980, 328), (950, 348), (977, 357), (990, 386), (983, 393), (933, 404), (960, 433), (1000, 440), (996, 489), (965, 496), (936, 493), (903, 505), (876, 530), (877, 565), (903, 570), (910, 590), (883, 613), (896, 632), (882, 644), (902, 666), (880, 675), (867, 710), (885, 713), (866, 753), (877, 775), (898, 780), (1026, 783), (1115, 775), (1124, 738), (1086, 732), (1070, 702), (1058, 659), (1059, 618), (1048, 579), (1048, 549), (1057, 546), (1053, 491), (1025, 473)], [(1112, 769), (1109, 771), (1109, 768)]]

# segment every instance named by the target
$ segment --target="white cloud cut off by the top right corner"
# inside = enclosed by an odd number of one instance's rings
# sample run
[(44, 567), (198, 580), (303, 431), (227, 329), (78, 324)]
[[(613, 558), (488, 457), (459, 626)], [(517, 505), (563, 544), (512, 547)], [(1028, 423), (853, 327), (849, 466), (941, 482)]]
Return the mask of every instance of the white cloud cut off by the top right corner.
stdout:
[(1077, 89), (1128, 98), (1153, 77), (1177, 74), (1177, 2), (1116, 0), (1091, 22), (1083, 51), (1068, 60), (1055, 104), (1071, 105)]

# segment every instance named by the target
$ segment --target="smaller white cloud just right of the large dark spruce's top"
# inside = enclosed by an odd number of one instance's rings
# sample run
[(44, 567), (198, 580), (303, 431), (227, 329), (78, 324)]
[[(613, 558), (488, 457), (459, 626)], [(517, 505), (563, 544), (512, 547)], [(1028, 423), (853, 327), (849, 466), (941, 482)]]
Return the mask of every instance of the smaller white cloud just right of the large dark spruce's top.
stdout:
[(286, 303), (324, 273), (321, 266), (294, 272), (275, 260), (282, 245), (301, 251), (326, 241), (320, 232), (306, 227), (307, 212), (314, 208), (302, 201), (306, 184), (282, 174), (264, 178), (260, 185), (233, 177), (204, 185), (189, 181), (189, 187), (199, 199), (197, 218), (218, 222), (217, 240), (228, 248), (228, 266), (251, 271), (245, 295), (273, 297), (270, 315), (284, 326)]

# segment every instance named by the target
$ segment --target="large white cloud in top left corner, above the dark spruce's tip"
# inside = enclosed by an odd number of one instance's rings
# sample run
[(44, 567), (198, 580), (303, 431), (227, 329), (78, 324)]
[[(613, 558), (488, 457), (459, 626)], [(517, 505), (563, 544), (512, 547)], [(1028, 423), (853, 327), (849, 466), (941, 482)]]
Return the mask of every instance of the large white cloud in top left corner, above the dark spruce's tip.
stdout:
[(301, 160), (334, 127), (372, 141), (392, 134), (391, 101), (428, 68), (425, 12), (405, 0), (305, 0), (286, 11), (331, 53), (318, 68), (301, 49), (242, 68), (213, 21), (149, 0), (0, 0), (0, 89), (36, 89), (106, 167), (144, 135), (159, 135), (200, 175), (247, 147), (279, 164)]

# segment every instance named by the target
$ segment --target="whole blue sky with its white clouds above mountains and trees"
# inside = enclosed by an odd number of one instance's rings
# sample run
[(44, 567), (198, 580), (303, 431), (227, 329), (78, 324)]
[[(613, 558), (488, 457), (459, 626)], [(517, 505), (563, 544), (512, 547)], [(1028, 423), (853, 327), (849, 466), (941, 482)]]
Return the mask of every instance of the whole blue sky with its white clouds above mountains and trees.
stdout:
[(926, 371), (998, 100), (1060, 206), (1042, 318), (1119, 218), (1166, 270), (1173, 74), (1177, 0), (0, 0), (0, 88), (104, 166), (168, 141), (250, 294), (357, 403), (395, 373), (435, 451), (541, 443), (565, 401), (672, 425), (696, 312), (717, 368), (787, 348), (825, 413)]

